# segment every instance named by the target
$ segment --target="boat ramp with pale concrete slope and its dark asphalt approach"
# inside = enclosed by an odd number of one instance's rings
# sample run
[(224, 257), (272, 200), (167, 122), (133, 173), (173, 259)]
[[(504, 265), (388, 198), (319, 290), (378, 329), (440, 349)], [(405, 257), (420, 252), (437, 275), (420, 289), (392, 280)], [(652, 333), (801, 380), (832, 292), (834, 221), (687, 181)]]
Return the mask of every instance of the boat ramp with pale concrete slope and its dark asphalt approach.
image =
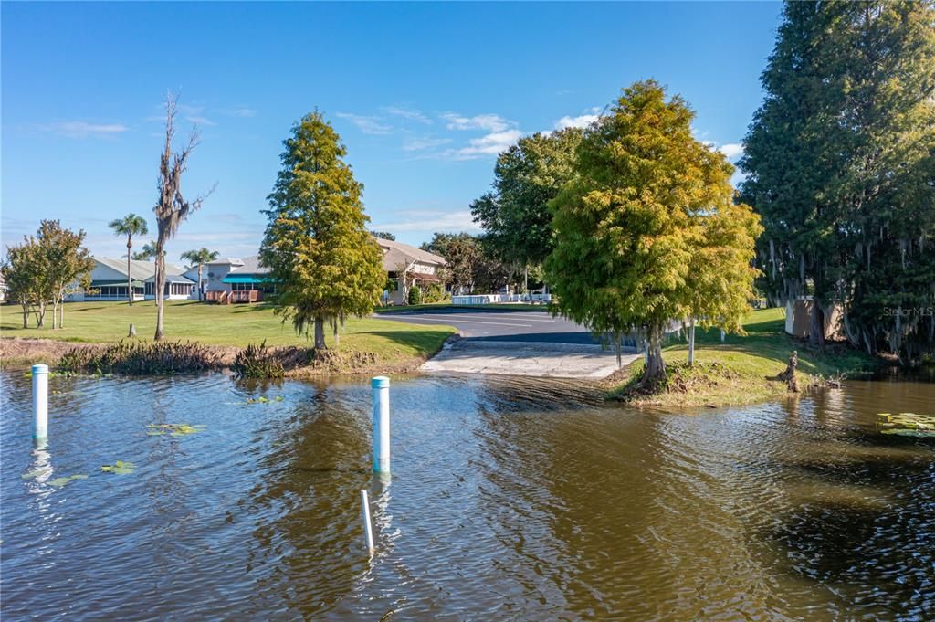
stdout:
[[(458, 329), (461, 339), (446, 344), (423, 371), (600, 379), (617, 369), (617, 355), (583, 326), (545, 311), (394, 311), (379, 317)], [(623, 365), (638, 358), (625, 353)]]

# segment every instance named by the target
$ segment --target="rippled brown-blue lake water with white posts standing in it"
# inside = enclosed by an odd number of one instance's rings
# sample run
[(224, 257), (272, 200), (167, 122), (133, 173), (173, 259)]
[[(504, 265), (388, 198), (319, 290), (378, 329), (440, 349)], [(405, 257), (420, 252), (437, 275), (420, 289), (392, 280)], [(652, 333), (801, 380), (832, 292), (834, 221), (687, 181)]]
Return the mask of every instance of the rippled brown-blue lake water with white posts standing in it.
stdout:
[(935, 411), (933, 383), (689, 416), (395, 379), (388, 482), (364, 379), (50, 390), (36, 450), (30, 380), (0, 373), (5, 621), (935, 619), (935, 441), (874, 428)]

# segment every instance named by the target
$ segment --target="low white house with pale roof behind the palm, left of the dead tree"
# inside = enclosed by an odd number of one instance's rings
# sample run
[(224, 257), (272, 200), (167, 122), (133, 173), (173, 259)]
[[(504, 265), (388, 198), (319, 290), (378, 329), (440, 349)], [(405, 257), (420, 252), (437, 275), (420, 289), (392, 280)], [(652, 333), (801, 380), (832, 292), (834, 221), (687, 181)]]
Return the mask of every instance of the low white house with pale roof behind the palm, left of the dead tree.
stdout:
[[(92, 257), (91, 294), (78, 292), (67, 297), (70, 302), (90, 300), (127, 300), (126, 259)], [(133, 279), (133, 299), (151, 300), (155, 297), (155, 265), (151, 261), (130, 260)], [(165, 264), (165, 299), (196, 300), (198, 268), (180, 268)]]

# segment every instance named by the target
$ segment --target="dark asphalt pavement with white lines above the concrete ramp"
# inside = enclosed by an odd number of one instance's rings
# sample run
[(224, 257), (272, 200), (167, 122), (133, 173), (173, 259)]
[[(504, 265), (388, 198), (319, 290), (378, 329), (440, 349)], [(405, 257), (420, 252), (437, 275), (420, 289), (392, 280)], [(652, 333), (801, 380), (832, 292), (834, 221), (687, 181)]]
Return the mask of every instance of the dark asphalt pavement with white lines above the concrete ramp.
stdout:
[(461, 331), (472, 341), (535, 341), (539, 343), (598, 343), (581, 325), (545, 311), (395, 311), (381, 313), (384, 320), (410, 324), (443, 324)]

